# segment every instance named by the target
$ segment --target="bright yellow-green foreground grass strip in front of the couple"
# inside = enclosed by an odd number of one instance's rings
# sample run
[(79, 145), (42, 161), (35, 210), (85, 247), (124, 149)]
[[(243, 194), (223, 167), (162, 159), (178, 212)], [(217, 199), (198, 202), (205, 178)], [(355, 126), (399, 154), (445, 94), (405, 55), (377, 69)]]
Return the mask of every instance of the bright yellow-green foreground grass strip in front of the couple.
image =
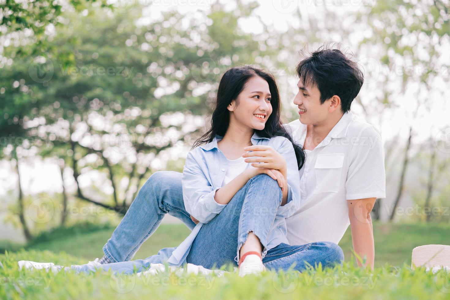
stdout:
[(345, 264), (342, 268), (303, 273), (266, 272), (239, 278), (160, 273), (137, 277), (111, 272), (75, 274), (18, 270), (23, 257), (56, 264), (84, 259), (50, 251), (18, 251), (0, 255), (0, 299), (449, 299), (450, 273), (376, 268), (373, 273)]

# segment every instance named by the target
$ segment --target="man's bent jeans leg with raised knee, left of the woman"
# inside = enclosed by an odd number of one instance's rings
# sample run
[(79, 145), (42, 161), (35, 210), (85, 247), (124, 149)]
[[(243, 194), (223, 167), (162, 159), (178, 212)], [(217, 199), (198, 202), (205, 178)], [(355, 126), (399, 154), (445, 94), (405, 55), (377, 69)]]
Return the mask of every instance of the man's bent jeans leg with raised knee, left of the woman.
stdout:
[(102, 263), (128, 261), (145, 240), (161, 224), (165, 214), (173, 215), (193, 229), (195, 223), (184, 209), (182, 173), (173, 171), (156, 172), (148, 178), (138, 195), (103, 246)]

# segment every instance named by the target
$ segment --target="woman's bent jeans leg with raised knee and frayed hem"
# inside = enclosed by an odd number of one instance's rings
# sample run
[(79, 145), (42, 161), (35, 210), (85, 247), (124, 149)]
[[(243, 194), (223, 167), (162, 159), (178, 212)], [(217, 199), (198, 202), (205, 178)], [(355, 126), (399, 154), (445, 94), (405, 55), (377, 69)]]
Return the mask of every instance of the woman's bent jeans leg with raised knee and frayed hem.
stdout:
[(274, 179), (266, 174), (253, 177), (219, 215), (202, 226), (187, 262), (208, 269), (228, 263), (236, 265), (238, 251), (249, 232), (258, 237), (264, 256), (281, 200), (281, 189)]

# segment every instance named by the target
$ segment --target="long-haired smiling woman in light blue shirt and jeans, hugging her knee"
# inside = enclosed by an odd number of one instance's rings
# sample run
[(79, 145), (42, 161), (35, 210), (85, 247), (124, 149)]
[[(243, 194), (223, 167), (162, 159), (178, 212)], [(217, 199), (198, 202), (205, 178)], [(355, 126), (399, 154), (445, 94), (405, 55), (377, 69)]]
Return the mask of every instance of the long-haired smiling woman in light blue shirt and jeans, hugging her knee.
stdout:
[[(211, 128), (194, 144), (198, 147), (189, 152), (183, 170), (184, 205), (198, 223), (189, 237), (179, 247), (164, 248), (145, 260), (72, 269), (132, 273), (155, 263), (211, 269), (239, 262), (243, 276), (261, 272), (267, 256), (271, 269), (293, 264), (305, 269), (299, 261), (305, 256), (296, 256), (302, 247), (288, 245), (284, 220), (299, 207), (298, 170), (305, 156), (280, 122), (280, 111), (278, 87), (270, 73), (248, 65), (226, 71)], [(264, 151), (271, 162), (246, 159), (252, 157), (247, 150)]]

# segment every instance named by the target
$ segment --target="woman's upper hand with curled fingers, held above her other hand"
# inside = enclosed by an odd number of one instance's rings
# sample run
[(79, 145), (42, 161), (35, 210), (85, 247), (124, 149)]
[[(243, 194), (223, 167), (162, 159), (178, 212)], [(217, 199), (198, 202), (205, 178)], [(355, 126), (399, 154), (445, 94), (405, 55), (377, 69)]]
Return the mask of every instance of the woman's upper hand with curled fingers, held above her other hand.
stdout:
[[(275, 169), (280, 170), (283, 174), (287, 173), (286, 160), (281, 154), (276, 152), (274, 148), (256, 145), (245, 147), (244, 151), (252, 151), (244, 153), (242, 157), (254, 157), (245, 159), (246, 162), (252, 162), (253, 167)], [(259, 162), (259, 164), (257, 162)]]

